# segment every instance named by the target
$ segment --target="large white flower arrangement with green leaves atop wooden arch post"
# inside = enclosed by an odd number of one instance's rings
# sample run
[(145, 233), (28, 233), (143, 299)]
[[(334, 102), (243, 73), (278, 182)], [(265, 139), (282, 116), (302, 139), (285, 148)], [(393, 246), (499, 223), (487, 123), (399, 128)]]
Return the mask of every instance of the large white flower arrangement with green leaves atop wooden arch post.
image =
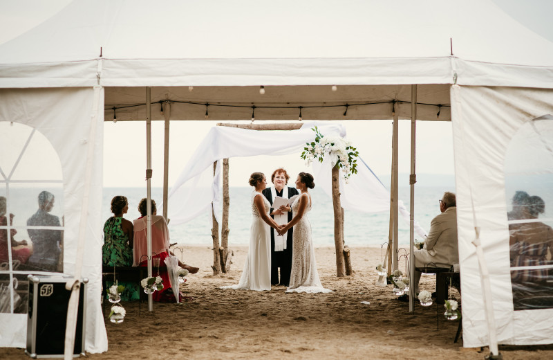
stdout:
[(325, 154), (330, 156), (330, 165), (335, 166), (344, 171), (344, 179), (346, 183), (351, 174), (357, 174), (357, 156), (359, 152), (351, 145), (351, 142), (345, 138), (323, 136), (317, 127), (313, 127), (315, 132), (315, 141), (306, 143), (301, 153), (301, 159), (306, 160), (307, 165), (311, 165), (313, 160), (323, 162)]

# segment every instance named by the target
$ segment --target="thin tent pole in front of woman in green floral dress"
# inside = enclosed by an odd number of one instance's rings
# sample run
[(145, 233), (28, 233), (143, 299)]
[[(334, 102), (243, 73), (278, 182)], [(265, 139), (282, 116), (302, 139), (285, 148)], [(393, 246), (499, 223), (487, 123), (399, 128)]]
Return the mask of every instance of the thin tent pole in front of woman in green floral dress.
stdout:
[[(151, 87), (146, 88), (146, 244), (148, 251), (148, 277), (151, 277)], [(148, 294), (148, 310), (153, 311), (153, 300)]]

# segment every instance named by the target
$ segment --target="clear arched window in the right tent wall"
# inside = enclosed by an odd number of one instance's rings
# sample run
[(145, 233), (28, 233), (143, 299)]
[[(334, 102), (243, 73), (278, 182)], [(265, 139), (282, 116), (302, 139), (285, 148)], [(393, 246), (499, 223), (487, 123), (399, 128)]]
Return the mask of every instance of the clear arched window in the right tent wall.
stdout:
[(553, 308), (553, 116), (525, 123), (505, 156), (515, 311)]

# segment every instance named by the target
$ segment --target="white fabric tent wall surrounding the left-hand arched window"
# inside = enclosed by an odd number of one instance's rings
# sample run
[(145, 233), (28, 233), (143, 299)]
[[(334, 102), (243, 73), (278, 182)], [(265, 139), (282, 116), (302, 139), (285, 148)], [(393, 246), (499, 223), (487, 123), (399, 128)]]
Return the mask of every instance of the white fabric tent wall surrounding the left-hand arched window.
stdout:
[[(94, 92), (100, 102), (94, 107)], [(59, 156), (64, 186), (64, 273), (73, 275), (77, 262), (77, 242), (84, 199), (88, 148), (93, 147), (92, 176), (82, 277), (88, 278), (86, 303), (86, 351), (107, 350), (107, 335), (100, 307), (102, 279), (102, 149), (103, 89), (0, 89), (0, 121), (28, 125), (41, 132)], [(91, 122), (95, 119), (95, 123)], [(91, 126), (96, 127), (93, 144), (89, 143)], [(26, 314), (0, 314), (0, 347), (26, 345)]]

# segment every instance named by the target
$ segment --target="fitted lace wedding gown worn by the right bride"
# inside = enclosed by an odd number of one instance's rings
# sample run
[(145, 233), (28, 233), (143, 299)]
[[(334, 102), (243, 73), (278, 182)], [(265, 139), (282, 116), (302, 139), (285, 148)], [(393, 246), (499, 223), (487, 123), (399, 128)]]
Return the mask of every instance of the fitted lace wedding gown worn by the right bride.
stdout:
[[(297, 213), (300, 197), (309, 195), (299, 195), (292, 203), (294, 214)], [(306, 292), (306, 293), (329, 293), (330, 289), (325, 289), (321, 285), (319, 272), (317, 271), (317, 262), (315, 261), (315, 249), (311, 240), (311, 223), (307, 213), (311, 210), (311, 201), (303, 213), (303, 217), (294, 225), (292, 235), (292, 273), (290, 274), (290, 287), (286, 292)]]

